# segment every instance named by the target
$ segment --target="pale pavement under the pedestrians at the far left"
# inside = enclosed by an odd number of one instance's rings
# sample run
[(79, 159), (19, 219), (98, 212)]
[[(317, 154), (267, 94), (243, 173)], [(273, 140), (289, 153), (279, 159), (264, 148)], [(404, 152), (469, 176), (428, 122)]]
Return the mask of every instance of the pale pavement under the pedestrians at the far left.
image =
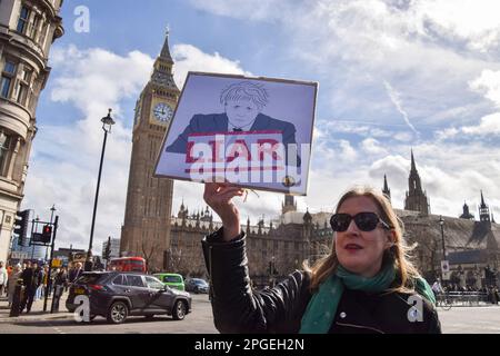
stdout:
[(14, 317), (9, 317), (10, 308), (8, 307), (7, 297), (0, 297), (0, 323), (13, 323), (20, 320), (33, 320), (33, 319), (64, 319), (67, 317), (72, 317), (72, 313), (69, 313), (66, 308), (66, 298), (68, 294), (63, 294), (59, 300), (59, 312), (50, 314), (50, 307), (52, 306), (52, 298), (47, 299), (47, 312), (43, 312), (44, 299), (33, 301), (31, 306), (31, 312), (26, 314), (26, 309), (22, 314)]

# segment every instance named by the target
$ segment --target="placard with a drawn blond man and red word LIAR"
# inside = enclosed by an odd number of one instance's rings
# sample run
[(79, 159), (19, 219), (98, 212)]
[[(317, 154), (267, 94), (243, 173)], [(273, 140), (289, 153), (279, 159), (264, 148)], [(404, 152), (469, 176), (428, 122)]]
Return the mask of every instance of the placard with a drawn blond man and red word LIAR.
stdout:
[(156, 177), (306, 195), (317, 82), (189, 72)]

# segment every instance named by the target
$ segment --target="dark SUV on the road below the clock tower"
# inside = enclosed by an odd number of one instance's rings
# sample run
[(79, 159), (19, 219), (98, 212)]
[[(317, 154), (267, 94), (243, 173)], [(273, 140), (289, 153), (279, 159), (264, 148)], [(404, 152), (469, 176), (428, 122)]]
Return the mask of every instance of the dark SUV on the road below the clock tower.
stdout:
[(191, 312), (189, 293), (171, 289), (158, 278), (130, 271), (83, 273), (70, 286), (66, 307), (73, 313), (77, 296), (89, 297), (90, 318), (101, 315), (109, 323), (123, 323), (128, 316), (171, 315), (182, 320)]

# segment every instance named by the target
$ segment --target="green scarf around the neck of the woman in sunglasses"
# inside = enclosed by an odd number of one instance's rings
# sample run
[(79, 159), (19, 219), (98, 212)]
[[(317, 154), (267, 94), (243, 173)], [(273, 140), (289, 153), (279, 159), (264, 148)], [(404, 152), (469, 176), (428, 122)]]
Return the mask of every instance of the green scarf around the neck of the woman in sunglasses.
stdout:
[[(374, 277), (367, 278), (352, 274), (342, 266), (330, 278), (327, 278), (308, 304), (300, 334), (327, 334), (337, 314), (337, 307), (342, 297), (343, 288), (380, 293), (390, 287), (396, 278), (396, 269), (392, 264), (387, 264)], [(416, 291), (436, 304), (436, 297), (426, 279), (419, 277), (414, 281)]]

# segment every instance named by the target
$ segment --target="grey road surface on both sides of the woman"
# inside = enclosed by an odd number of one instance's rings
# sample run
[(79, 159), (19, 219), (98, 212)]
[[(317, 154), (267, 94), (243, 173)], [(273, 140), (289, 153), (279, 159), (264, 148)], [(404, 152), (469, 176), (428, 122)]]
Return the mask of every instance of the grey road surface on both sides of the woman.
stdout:
[[(70, 313), (42, 314), (42, 305), (37, 301), (33, 314), (9, 318), (7, 303), (0, 301), (0, 334), (218, 334), (206, 294), (192, 294), (192, 313), (180, 322), (169, 316), (152, 320), (130, 317), (124, 324), (110, 325), (97, 317), (90, 324), (82, 324)], [(444, 334), (500, 334), (500, 306), (438, 308), (438, 314)]]

